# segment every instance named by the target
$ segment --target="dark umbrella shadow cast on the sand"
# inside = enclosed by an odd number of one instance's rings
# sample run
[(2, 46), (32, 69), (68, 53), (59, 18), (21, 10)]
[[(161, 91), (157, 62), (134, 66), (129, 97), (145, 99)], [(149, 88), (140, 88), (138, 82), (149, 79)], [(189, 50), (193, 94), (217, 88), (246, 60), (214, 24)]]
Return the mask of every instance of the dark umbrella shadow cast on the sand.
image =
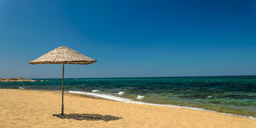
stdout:
[(99, 115), (99, 114), (53, 114), (53, 116), (59, 117), (61, 119), (75, 119), (75, 120), (90, 120), (90, 121), (114, 121), (114, 120), (119, 120), (122, 119), (120, 117), (114, 117), (110, 115)]

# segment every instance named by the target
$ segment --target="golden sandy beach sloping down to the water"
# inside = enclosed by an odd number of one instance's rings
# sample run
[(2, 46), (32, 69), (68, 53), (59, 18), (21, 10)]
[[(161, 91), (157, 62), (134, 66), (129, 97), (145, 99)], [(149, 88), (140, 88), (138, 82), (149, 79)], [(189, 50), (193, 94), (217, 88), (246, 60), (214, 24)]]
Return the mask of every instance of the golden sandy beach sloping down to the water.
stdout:
[(0, 89), (0, 127), (255, 127), (256, 121), (209, 111), (110, 101), (64, 93), (65, 114), (101, 114), (115, 121), (60, 119), (61, 92)]

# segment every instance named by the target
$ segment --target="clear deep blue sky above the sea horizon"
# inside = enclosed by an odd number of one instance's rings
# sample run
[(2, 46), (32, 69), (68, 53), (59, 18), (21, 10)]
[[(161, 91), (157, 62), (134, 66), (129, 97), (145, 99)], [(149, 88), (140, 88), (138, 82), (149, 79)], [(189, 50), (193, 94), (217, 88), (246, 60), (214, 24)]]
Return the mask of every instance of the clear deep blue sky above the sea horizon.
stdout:
[(68, 46), (66, 78), (256, 75), (256, 1), (0, 1), (0, 77), (61, 78), (32, 61)]

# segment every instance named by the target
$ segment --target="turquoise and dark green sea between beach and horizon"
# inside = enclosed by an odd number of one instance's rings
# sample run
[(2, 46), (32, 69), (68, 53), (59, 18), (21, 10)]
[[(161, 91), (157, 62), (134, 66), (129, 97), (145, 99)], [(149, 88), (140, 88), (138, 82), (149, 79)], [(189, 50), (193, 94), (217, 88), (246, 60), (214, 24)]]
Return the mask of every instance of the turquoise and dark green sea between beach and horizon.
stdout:
[[(61, 91), (62, 79), (42, 80), (2, 82), (0, 88)], [(256, 117), (256, 76), (65, 78), (64, 91)]]

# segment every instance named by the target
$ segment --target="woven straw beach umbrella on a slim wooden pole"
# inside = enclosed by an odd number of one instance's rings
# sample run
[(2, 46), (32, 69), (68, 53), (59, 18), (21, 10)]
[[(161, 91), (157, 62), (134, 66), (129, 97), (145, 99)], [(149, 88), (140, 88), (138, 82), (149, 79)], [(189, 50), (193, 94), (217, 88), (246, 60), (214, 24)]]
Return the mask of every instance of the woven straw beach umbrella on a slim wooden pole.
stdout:
[(61, 115), (63, 115), (63, 90), (64, 90), (64, 64), (91, 64), (96, 62), (90, 57), (78, 53), (69, 47), (58, 47), (53, 51), (29, 62), (30, 64), (62, 64), (62, 104)]

